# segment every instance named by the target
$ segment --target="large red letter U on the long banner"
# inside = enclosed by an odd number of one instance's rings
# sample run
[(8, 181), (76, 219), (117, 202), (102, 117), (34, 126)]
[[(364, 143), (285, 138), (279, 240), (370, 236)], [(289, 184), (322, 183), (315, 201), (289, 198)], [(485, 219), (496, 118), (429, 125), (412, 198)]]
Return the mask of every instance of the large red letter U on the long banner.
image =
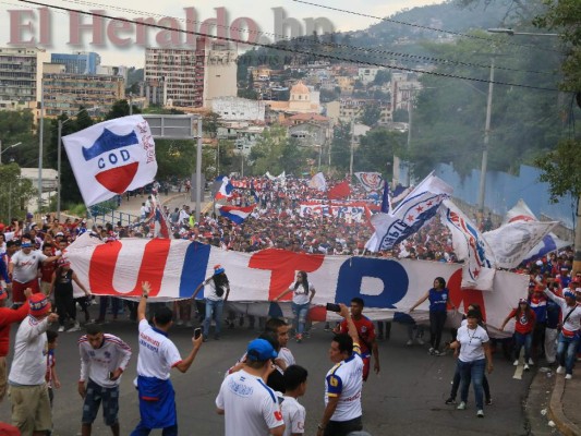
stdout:
[[(131, 292), (119, 292), (113, 287), (116, 266), (123, 244), (113, 241), (97, 246), (90, 257), (88, 269), (88, 282), (92, 291), (96, 294), (141, 295), (142, 281), (148, 281), (152, 284), (150, 295), (157, 295), (161, 288), (170, 243), (171, 240), (169, 239), (153, 239), (145, 245), (135, 288)], [(132, 259), (125, 257), (124, 262), (132, 262)]]

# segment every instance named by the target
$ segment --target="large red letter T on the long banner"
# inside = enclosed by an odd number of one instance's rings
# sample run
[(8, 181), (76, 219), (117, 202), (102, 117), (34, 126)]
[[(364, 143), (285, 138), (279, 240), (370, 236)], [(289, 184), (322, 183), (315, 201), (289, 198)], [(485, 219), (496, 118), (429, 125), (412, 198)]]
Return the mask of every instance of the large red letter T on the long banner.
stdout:
[[(294, 274), (296, 271), (316, 271), (323, 265), (324, 258), (323, 254), (293, 253), (286, 250), (267, 249), (253, 254), (249, 262), (249, 267), (273, 271), (268, 287), (268, 300), (274, 300), (282, 291), (286, 291), (290, 283), (294, 282)], [(283, 300), (291, 299), (292, 295), (289, 294)]]

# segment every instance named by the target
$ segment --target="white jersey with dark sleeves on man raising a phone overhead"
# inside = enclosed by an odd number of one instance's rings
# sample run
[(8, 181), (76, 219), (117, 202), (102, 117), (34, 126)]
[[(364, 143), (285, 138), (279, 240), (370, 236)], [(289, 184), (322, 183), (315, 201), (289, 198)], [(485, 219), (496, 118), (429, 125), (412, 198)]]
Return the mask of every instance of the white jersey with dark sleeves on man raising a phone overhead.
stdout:
[(353, 343), (351, 358), (339, 362), (325, 377), (325, 405), (330, 397), (339, 397), (331, 421), (354, 420), (363, 414), (361, 391), (363, 389), (363, 361), (359, 343)]

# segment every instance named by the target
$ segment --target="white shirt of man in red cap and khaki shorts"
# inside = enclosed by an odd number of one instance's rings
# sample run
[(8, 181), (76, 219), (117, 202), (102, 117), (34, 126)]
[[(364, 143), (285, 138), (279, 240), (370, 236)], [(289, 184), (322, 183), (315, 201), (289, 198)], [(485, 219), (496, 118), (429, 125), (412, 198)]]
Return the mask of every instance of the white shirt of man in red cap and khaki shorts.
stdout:
[(39, 322), (28, 315), (21, 323), (14, 340), (14, 358), (8, 376), (10, 384), (24, 386), (45, 384), (48, 354), (47, 329), (48, 317)]

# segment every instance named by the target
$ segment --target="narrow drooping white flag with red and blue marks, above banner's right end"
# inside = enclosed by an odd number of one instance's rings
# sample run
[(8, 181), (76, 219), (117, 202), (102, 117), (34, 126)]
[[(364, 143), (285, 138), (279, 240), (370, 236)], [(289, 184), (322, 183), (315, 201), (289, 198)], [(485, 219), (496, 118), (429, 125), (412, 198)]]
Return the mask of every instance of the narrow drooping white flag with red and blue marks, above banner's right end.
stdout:
[(482, 283), (481, 275), (483, 275), (484, 268), (493, 266), (494, 261), (488, 259), (493, 256), (493, 252), (477, 227), (458, 206), (448, 199), (443, 202), (440, 213), (441, 221), (452, 233), (453, 252), (460, 261), (465, 261), (467, 275), (462, 275), (462, 286), (465, 288), (477, 287), (481, 290), (489, 289), (492, 278), (494, 278), (494, 269), (492, 270), (493, 277), (487, 277), (489, 279), (487, 283)]

